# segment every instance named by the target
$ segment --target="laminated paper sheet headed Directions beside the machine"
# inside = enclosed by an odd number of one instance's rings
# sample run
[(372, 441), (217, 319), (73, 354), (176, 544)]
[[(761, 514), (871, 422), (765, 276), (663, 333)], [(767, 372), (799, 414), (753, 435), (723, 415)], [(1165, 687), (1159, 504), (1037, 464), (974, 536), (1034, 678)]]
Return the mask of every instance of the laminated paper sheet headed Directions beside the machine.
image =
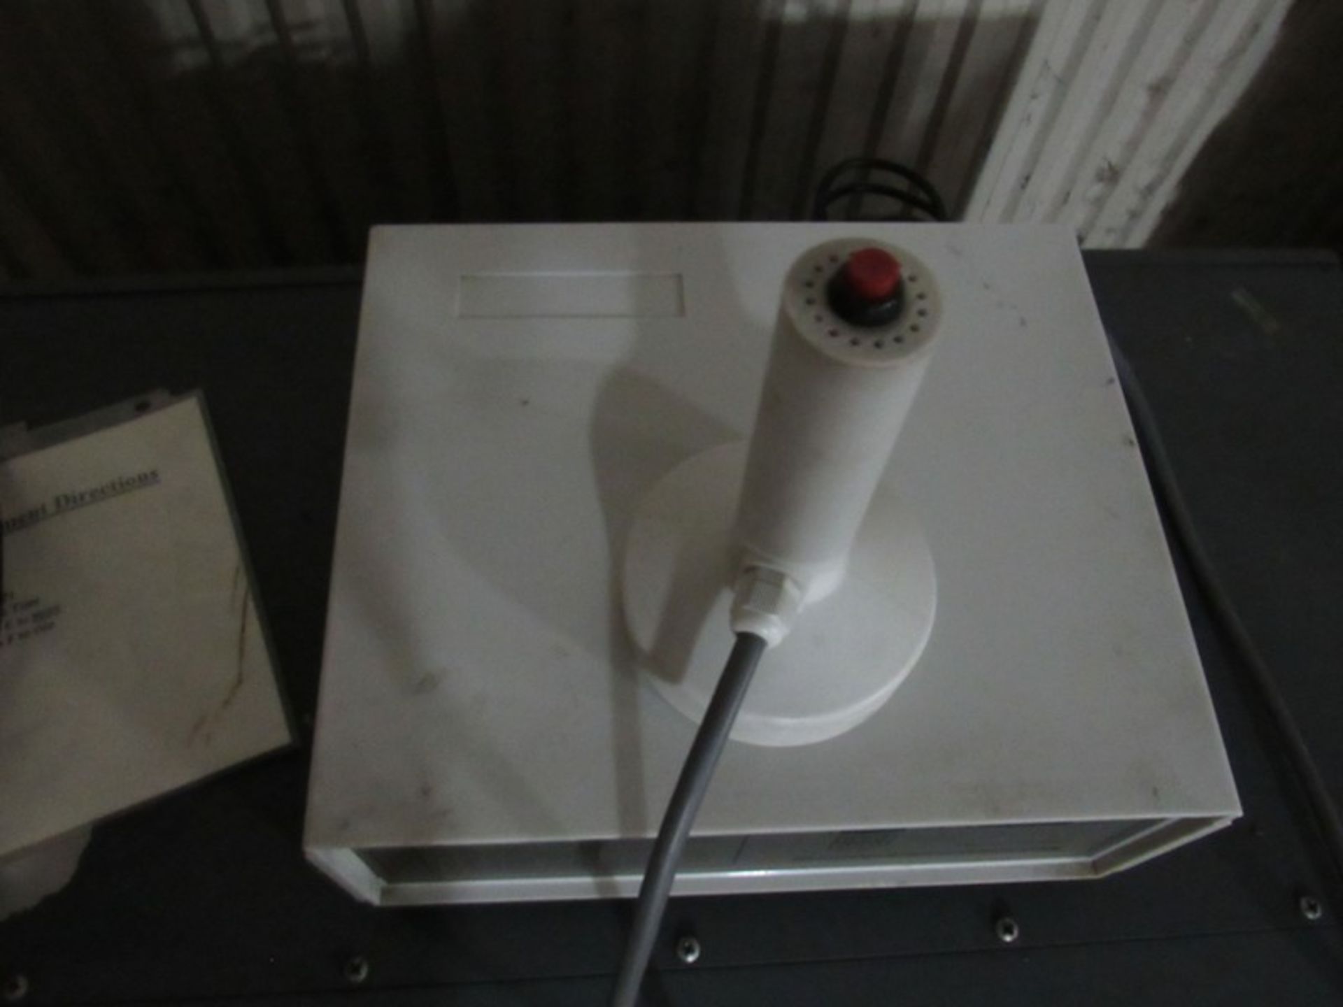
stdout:
[(0, 462), (0, 858), (290, 740), (197, 397)]

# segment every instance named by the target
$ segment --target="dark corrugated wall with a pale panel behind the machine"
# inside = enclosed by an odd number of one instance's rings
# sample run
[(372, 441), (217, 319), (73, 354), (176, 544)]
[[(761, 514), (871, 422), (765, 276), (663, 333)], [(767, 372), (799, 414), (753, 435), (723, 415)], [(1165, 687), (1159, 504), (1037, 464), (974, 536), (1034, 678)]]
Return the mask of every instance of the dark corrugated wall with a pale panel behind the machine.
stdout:
[[(0, 282), (355, 263), (375, 223), (800, 219), (855, 154), (1088, 246), (1142, 243), (1178, 180), (1156, 244), (1339, 248), (1340, 38), (1336, 0), (0, 0)], [(1018, 87), (1054, 89), (1030, 124)], [(1023, 191), (976, 205), (1027, 126)]]

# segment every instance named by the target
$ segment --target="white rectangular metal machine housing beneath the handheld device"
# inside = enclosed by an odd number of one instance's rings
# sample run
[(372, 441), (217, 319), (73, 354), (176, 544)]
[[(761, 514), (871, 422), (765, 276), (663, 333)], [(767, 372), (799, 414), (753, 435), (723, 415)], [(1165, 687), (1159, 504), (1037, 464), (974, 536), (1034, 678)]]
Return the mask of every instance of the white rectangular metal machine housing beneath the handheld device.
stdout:
[(932, 635), (857, 728), (729, 745), (674, 893), (1089, 878), (1240, 814), (1066, 228), (393, 227), (309, 791), (336, 881), (383, 905), (634, 894), (694, 726), (635, 671), (624, 544), (667, 473), (749, 435), (790, 265), (854, 238), (943, 298), (882, 482), (936, 563)]

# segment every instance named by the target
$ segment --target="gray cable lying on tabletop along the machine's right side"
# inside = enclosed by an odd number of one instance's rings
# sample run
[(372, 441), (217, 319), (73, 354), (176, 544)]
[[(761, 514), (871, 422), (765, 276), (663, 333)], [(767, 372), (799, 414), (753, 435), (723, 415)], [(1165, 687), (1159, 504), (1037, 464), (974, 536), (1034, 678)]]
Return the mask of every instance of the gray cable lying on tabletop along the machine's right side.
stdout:
[(1330, 854), (1332, 867), (1338, 875), (1336, 881), (1343, 879), (1343, 818), (1339, 816), (1339, 810), (1334, 803), (1328, 783), (1326, 783), (1324, 775), (1311, 756), (1311, 748), (1305, 741), (1305, 736), (1301, 733), (1300, 726), (1297, 726), (1296, 717), (1292, 716), (1292, 709), (1287, 698), (1277, 687), (1277, 681), (1272, 670), (1269, 670), (1268, 662), (1264, 661), (1258, 647), (1254, 644), (1253, 636), (1250, 636), (1249, 630), (1236, 611), (1230, 595), (1228, 595), (1226, 588), (1222, 587), (1222, 583), (1214, 573), (1213, 561), (1209, 559), (1207, 549), (1198, 536), (1194, 516), (1185, 502), (1179, 482), (1175, 478), (1175, 469), (1166, 451), (1166, 444), (1162, 442), (1156, 416), (1147, 401), (1147, 396), (1143, 395), (1138, 377), (1133, 375), (1133, 368), (1113, 338), (1109, 342), (1109, 348), (1115, 357), (1115, 368), (1119, 371), (1120, 387), (1124, 389), (1124, 397), (1128, 399), (1128, 408), (1136, 422), (1143, 454), (1147, 457), (1152, 475), (1156, 477), (1154, 479), (1156, 498), (1170, 517), (1179, 544), (1189, 557), (1190, 571), (1198, 583), (1199, 591), (1203, 592), (1203, 597), (1213, 610), (1213, 615), (1221, 624), (1222, 631), (1230, 636), (1234, 653), (1240, 657), (1240, 663), (1249, 673), (1250, 683), (1268, 710), (1273, 726), (1277, 728), (1288, 767), (1305, 796), (1307, 810)]

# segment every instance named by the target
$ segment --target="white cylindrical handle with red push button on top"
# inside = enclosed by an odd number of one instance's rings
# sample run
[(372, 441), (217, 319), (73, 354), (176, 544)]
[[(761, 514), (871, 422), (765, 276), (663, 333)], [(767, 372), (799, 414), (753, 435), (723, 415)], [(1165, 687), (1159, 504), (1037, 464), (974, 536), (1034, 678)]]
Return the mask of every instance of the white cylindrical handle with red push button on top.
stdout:
[(939, 318), (932, 275), (902, 248), (841, 240), (798, 259), (741, 487), (741, 568), (783, 572), (804, 600), (839, 585)]

